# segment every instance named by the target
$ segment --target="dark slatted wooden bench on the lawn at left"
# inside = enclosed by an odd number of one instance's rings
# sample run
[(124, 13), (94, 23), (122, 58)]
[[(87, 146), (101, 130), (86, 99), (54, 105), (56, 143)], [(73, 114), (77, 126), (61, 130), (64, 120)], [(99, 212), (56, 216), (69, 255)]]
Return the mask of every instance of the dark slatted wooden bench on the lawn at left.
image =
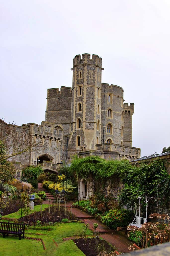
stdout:
[(21, 235), (23, 235), (24, 238), (24, 232), (25, 232), (25, 223), (11, 223), (11, 222), (3, 222), (0, 221), (0, 233), (3, 234), (3, 237), (5, 237), (5, 234), (13, 234), (18, 235), (19, 240), (21, 240)]

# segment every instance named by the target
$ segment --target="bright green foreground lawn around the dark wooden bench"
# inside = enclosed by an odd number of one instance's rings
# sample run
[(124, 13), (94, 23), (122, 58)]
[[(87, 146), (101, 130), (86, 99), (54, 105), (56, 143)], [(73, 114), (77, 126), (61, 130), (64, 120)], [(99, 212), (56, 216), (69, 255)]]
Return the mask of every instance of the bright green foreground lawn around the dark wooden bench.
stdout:
[[(83, 256), (72, 240), (63, 241), (62, 238), (79, 235), (84, 227), (83, 223), (59, 223), (54, 226), (31, 226), (25, 229), (25, 237), (43, 239), (47, 250), (43, 249), (40, 241), (21, 239), (0, 235), (1, 256)], [(88, 229), (88, 235), (93, 232)], [(56, 247), (54, 241), (58, 244)]]

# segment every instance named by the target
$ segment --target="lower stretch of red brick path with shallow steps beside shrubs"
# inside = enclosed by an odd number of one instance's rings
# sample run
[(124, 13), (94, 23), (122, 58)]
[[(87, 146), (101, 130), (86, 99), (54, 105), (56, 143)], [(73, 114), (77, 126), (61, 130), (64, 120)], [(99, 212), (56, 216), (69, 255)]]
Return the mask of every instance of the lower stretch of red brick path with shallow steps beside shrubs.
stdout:
[[(70, 211), (70, 208), (68, 208)], [(106, 225), (102, 224), (100, 221), (94, 219), (94, 216), (78, 209), (72, 207), (72, 213), (79, 219), (81, 219), (85, 224), (89, 224), (89, 229), (94, 231), (93, 223), (98, 223), (96, 232), (100, 233), (100, 236), (109, 242), (111, 245), (115, 246), (119, 252), (130, 252), (128, 247), (132, 245), (131, 241), (117, 231), (108, 229)]]

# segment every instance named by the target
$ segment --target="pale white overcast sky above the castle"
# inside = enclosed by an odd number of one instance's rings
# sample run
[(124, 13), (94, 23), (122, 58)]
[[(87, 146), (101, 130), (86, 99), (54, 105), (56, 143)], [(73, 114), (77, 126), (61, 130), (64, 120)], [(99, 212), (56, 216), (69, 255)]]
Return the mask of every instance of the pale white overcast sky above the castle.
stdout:
[(135, 104), (133, 146), (170, 146), (169, 0), (0, 0), (0, 12), (0, 118), (40, 124), (47, 89), (72, 86), (76, 54), (97, 54), (102, 82)]

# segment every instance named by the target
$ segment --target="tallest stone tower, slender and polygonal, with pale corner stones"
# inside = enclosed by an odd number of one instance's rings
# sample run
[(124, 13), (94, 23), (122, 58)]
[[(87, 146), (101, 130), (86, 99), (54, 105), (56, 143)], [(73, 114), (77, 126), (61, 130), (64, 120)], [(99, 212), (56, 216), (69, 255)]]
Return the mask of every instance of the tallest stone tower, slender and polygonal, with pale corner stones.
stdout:
[(82, 54), (73, 59), (72, 111), (68, 148), (95, 150), (101, 143), (102, 59)]

